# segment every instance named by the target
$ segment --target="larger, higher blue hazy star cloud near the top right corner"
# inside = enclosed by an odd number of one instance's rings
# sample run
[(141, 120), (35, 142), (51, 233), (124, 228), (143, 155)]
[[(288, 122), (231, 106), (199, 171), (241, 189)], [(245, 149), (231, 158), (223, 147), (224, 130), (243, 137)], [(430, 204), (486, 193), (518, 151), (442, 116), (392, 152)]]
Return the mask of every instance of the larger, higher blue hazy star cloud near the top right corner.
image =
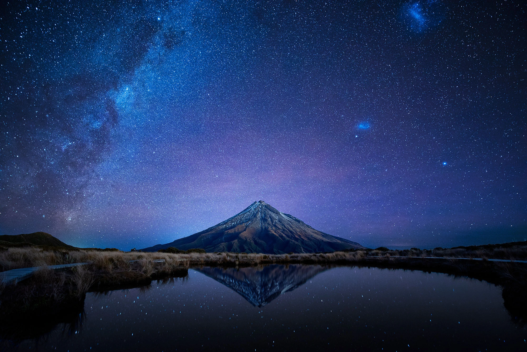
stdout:
[(428, 0), (404, 4), (401, 16), (409, 30), (421, 33), (440, 24), (444, 13), (445, 6), (440, 1)]

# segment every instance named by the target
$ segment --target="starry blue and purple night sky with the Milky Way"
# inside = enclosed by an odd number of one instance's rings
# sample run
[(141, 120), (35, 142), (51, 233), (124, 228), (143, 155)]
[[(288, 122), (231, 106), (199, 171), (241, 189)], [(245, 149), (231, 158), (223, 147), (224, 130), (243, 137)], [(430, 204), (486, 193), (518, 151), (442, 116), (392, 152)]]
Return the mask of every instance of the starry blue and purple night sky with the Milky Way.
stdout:
[(13, 1), (0, 232), (167, 243), (264, 200), (368, 247), (527, 238), (521, 1)]

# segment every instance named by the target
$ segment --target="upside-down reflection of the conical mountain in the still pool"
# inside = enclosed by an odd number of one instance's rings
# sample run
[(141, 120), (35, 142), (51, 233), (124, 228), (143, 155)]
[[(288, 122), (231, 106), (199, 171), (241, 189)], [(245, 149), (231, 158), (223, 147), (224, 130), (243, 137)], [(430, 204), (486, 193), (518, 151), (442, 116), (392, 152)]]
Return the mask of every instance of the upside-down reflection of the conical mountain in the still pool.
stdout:
[(267, 265), (250, 268), (194, 269), (232, 288), (250, 304), (262, 307), (280, 294), (292, 291), (319, 272), (327, 270), (319, 265)]

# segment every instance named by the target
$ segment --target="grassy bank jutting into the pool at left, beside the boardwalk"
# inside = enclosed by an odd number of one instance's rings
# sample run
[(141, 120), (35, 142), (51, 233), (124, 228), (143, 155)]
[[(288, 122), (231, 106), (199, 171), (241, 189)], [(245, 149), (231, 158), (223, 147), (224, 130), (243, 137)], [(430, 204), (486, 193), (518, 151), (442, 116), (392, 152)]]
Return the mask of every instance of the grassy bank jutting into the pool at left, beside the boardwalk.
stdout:
[[(48, 265), (75, 262), (90, 265), (60, 271), (47, 269)], [(0, 320), (15, 324), (22, 319), (23, 324), (28, 317), (51, 319), (67, 315), (83, 307), (86, 292), (141, 287), (155, 279), (186, 277), (189, 265), (188, 260), (162, 253), (11, 247), (0, 252), (1, 271), (42, 268), (16, 285), (0, 283)]]

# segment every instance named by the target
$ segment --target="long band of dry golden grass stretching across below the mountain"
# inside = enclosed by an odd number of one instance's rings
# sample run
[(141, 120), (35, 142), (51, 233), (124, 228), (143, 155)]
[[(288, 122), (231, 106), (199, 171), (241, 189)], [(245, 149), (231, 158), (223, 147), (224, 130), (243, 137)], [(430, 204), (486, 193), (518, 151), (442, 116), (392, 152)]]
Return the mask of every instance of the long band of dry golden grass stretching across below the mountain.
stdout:
[[(445, 258), (496, 258), (527, 259), (527, 246), (509, 246), (495, 248), (489, 246), (467, 248), (435, 248), (420, 250), (357, 250), (333, 253), (292, 253), (284, 255), (266, 255), (261, 253), (161, 253), (161, 252), (120, 252), (91, 250), (50, 250), (36, 247), (9, 248), (0, 252), (0, 271), (26, 267), (40, 267), (63, 263), (90, 262), (92, 270), (112, 273), (114, 271), (139, 271), (147, 276), (154, 273), (168, 273), (174, 268), (189, 268), (193, 265), (212, 266), (252, 266), (266, 263), (342, 263), (372, 260), (372, 256), (385, 260), (396, 257), (445, 257)], [(151, 260), (164, 259), (164, 263), (152, 263)], [(138, 262), (130, 261), (136, 260)]]

